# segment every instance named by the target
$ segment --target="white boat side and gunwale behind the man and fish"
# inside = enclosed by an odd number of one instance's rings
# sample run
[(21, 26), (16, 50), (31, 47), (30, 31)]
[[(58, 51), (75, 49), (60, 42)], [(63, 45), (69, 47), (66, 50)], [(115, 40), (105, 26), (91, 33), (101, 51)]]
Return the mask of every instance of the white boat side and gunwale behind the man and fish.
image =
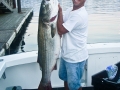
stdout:
[[(83, 88), (93, 87), (91, 84), (92, 75), (120, 61), (120, 43), (87, 44), (87, 48), (89, 58), (82, 77)], [(37, 53), (38, 51), (30, 51), (1, 56), (0, 90), (7, 90), (7, 88), (14, 86), (20, 86), (22, 90), (37, 90), (42, 76), (37, 63)], [(58, 77), (59, 61), (58, 59), (57, 70), (54, 70), (51, 75), (53, 90), (64, 90), (63, 81)]]

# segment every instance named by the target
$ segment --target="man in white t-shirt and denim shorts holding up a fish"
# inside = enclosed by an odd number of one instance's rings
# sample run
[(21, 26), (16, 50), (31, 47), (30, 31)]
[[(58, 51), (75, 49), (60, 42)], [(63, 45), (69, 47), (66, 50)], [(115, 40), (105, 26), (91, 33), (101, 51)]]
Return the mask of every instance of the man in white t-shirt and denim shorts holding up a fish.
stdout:
[(85, 0), (72, 0), (73, 7), (65, 15), (60, 5), (58, 11), (58, 33), (62, 36), (59, 77), (64, 80), (65, 90), (82, 90), (81, 78), (88, 59), (87, 29), (88, 14)]

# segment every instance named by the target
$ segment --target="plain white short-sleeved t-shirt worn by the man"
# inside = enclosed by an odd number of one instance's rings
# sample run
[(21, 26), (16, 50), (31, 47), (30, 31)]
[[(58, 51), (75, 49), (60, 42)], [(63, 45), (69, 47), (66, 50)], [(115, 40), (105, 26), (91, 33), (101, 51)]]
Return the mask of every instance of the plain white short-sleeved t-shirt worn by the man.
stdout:
[(70, 63), (88, 58), (87, 32), (88, 13), (85, 7), (72, 11), (69, 8), (63, 15), (63, 26), (69, 31), (62, 37), (61, 57)]

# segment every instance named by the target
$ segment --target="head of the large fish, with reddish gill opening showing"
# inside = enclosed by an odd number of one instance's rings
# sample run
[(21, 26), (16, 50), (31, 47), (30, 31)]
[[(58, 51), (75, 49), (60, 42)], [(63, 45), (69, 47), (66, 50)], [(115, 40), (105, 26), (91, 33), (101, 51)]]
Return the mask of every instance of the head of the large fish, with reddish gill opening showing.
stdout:
[(40, 7), (40, 17), (43, 22), (51, 23), (57, 20), (58, 0), (42, 0)]

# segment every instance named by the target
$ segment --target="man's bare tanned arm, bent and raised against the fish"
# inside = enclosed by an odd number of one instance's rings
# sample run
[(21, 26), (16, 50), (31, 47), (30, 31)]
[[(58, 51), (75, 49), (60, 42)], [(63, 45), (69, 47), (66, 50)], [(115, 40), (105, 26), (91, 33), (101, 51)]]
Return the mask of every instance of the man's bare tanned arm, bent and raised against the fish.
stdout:
[(62, 14), (62, 8), (60, 5), (58, 5), (59, 11), (58, 11), (58, 20), (57, 20), (57, 28), (58, 28), (58, 34), (61, 36), (62, 34), (65, 34), (68, 32), (66, 28), (64, 28), (63, 24), (63, 14)]

